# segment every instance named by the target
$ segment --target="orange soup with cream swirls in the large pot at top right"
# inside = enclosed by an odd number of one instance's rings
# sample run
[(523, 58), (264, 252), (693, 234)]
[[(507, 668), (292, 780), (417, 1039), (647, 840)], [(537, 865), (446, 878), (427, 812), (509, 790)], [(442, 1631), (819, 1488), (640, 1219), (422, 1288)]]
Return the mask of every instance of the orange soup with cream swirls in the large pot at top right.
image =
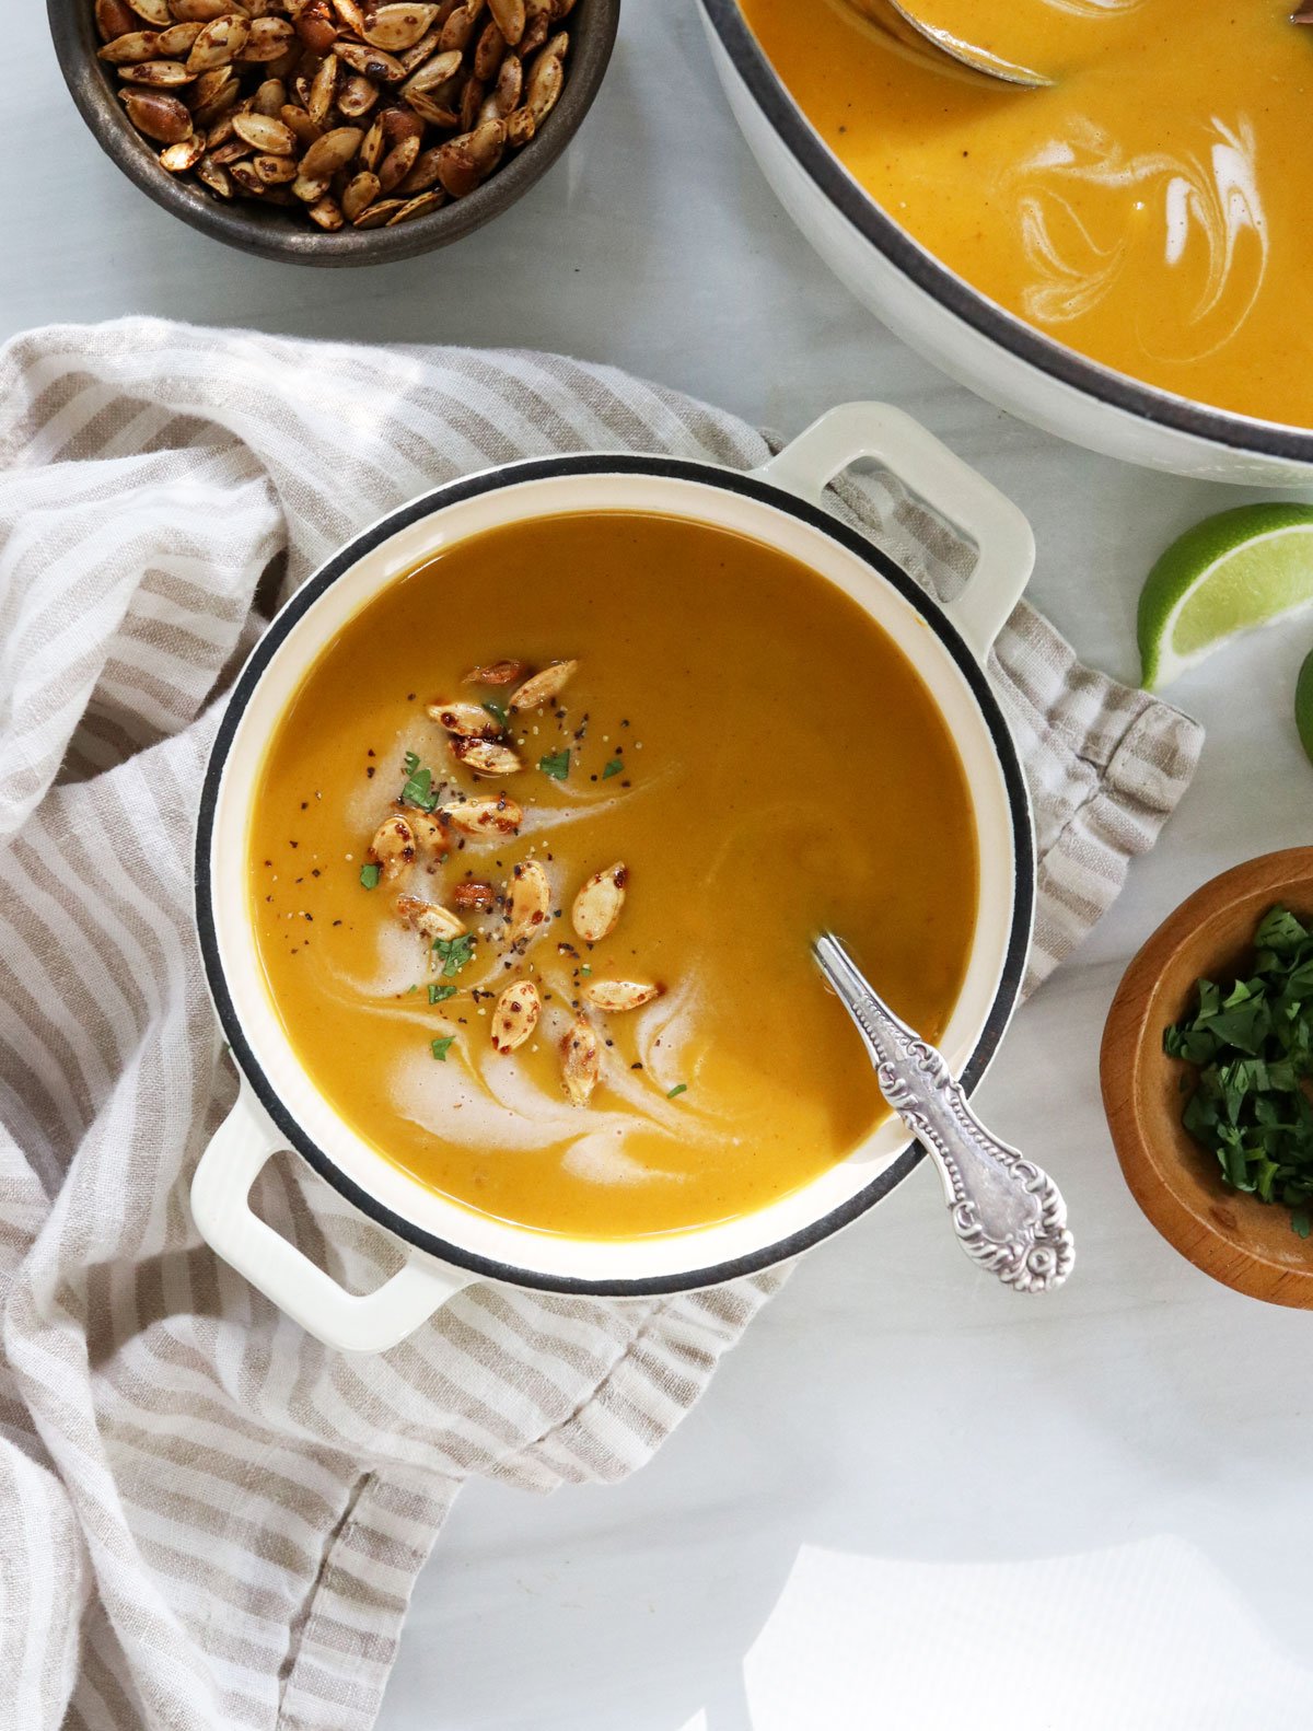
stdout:
[(1182, 396), (1313, 426), (1313, 29), (1291, 0), (917, 0), (1054, 78), (891, 45), (860, 0), (740, 0), (872, 197), (993, 301)]

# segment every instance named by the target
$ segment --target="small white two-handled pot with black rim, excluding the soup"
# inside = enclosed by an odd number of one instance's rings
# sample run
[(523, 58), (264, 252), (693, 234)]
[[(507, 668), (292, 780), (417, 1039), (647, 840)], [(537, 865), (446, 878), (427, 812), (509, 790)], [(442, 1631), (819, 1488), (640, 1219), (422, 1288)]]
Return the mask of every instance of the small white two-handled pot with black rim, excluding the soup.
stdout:
[[(976, 571), (951, 606), (939, 608), (820, 507), (825, 483), (860, 457), (884, 462), (977, 544)], [(972, 791), (979, 919), (943, 1039), (969, 1084), (998, 1046), (1021, 983), (1034, 895), (1029, 810), (981, 663), (1029, 576), (1034, 549), (1015, 505), (929, 433), (900, 410), (849, 403), (749, 476), (668, 457), (555, 457), (491, 469), (413, 500), (360, 533), (270, 625), (215, 743), (195, 852), (209, 987), (242, 1071), (239, 1103), (195, 1174), (195, 1220), (253, 1284), (310, 1333), (348, 1350), (393, 1345), (472, 1279), (637, 1297), (766, 1267), (856, 1219), (919, 1158), (905, 1146), (906, 1132), (887, 1122), (848, 1160), (742, 1219), (642, 1239), (554, 1236), (474, 1213), (382, 1158), (337, 1116), (291, 1047), (261, 975), (246, 885), (256, 777), (273, 727), (323, 646), (387, 583), (455, 540), (576, 511), (657, 512), (754, 537), (839, 585), (889, 632), (939, 705)], [(853, 1063), (863, 1061), (855, 1040)], [(363, 1298), (343, 1291), (251, 1212), (256, 1174), (289, 1146), (413, 1246), (407, 1267), (379, 1291)]]

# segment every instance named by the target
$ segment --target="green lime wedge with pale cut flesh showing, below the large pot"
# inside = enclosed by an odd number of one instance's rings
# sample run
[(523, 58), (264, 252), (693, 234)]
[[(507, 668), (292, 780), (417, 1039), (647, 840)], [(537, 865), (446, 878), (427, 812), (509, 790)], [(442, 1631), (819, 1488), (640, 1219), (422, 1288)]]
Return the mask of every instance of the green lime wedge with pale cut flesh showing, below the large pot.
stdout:
[(1161, 691), (1240, 632), (1313, 602), (1313, 505), (1239, 505), (1204, 518), (1140, 590), (1140, 682)]

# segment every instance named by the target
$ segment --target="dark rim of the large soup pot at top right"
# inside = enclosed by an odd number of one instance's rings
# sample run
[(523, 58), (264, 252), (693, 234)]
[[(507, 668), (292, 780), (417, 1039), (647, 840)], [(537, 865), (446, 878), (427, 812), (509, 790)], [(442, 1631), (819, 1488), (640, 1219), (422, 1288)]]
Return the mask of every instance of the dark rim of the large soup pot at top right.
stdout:
[(832, 154), (758, 47), (737, 0), (701, 0), (702, 10), (753, 100), (789, 149), (797, 166), (848, 222), (891, 265), (919, 289), (931, 294), (941, 306), (964, 324), (990, 338), (998, 348), (1015, 355), (1048, 377), (1069, 384), (1083, 396), (1121, 409), (1140, 421), (1185, 433), (1237, 452), (1256, 452), (1303, 466), (1313, 464), (1313, 431), (1259, 421), (1195, 403), (1173, 391), (1142, 384), (1123, 372), (1114, 372), (1097, 360), (1078, 355), (1076, 350), (1041, 336), (1021, 319), (1003, 312), (979, 289), (941, 265), (912, 235), (887, 216)]

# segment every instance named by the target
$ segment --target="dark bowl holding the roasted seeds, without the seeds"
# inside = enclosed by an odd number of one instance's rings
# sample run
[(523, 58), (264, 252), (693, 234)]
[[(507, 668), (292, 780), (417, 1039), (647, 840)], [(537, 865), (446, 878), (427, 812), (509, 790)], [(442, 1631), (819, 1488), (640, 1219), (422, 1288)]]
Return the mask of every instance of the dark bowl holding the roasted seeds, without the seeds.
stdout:
[[(512, 156), (477, 190), (427, 216), (417, 216), (396, 228), (341, 228), (325, 234), (294, 211), (263, 208), (253, 201), (225, 204), (190, 177), (175, 177), (157, 163), (159, 145), (144, 138), (118, 100), (119, 83), (112, 68), (97, 59), (100, 38), (95, 29), (93, 0), (47, 0), (50, 33), (64, 80), (81, 118), (100, 147), (123, 173), (156, 204), (182, 216), (216, 241), (239, 246), (261, 258), (282, 258), (294, 265), (375, 265), (394, 258), (413, 258), (436, 246), (446, 246), (500, 216), (528, 192), (560, 156), (583, 116), (592, 107), (611, 61), (619, 23), (619, 0), (578, 0), (564, 24), (569, 29), (569, 59), (560, 100), (543, 121), (541, 132)], [(145, 24), (142, 26), (145, 28)]]

